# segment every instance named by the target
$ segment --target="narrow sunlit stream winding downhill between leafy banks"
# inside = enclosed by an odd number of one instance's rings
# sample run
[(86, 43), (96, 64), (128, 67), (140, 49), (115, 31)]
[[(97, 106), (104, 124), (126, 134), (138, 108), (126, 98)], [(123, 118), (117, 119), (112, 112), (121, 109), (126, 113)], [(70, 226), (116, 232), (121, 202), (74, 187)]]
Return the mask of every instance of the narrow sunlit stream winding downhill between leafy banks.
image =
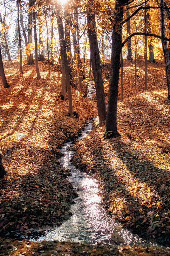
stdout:
[[(93, 93), (94, 88), (91, 85), (88, 97), (91, 97)], [(85, 138), (92, 131), (92, 121), (88, 121), (78, 140)], [(123, 229), (106, 213), (105, 208), (101, 206), (101, 198), (98, 196), (97, 180), (71, 164), (71, 159), (75, 153), (70, 151), (71, 144), (72, 142), (64, 144), (60, 150), (63, 156), (60, 157), (59, 162), (61, 166), (69, 168), (71, 171), (71, 176), (67, 179), (73, 184), (73, 188), (78, 193), (78, 197), (74, 200), (75, 204), (71, 205), (70, 212), (72, 216), (59, 227), (42, 227), (39, 230), (31, 231), (28, 236), (21, 234), (19, 231), (14, 231), (13, 237), (15, 236), (17, 239), (29, 238), (29, 240), (34, 241), (45, 239), (85, 244), (158, 246), (153, 240), (140, 238), (130, 230)]]

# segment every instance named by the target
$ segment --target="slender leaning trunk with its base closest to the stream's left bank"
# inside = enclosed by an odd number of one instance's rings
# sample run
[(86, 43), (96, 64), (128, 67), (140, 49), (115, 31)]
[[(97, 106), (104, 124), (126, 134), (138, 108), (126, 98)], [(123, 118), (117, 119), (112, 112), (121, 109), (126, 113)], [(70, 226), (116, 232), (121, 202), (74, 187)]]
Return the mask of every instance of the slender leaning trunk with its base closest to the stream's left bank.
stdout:
[[(60, 8), (61, 7), (59, 7), (59, 9)], [(68, 60), (67, 60), (67, 53), (66, 53), (66, 44), (64, 39), (64, 27), (63, 27), (63, 22), (61, 18), (61, 10), (58, 10), (57, 3), (56, 3), (56, 10), (57, 10), (58, 35), (59, 35), (59, 42), (60, 42), (60, 53), (64, 60), (66, 87), (68, 90), (68, 101), (69, 101), (68, 112), (72, 117), (72, 95), (71, 95), (70, 74), (69, 74), (69, 67), (68, 67)]]

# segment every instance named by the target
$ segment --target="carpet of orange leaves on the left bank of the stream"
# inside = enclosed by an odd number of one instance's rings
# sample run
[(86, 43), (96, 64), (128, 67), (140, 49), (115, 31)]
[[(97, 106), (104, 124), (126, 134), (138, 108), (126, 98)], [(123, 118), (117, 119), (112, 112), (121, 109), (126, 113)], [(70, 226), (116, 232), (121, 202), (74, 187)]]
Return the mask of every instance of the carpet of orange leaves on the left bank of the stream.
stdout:
[(61, 73), (56, 68), (49, 75), (47, 67), (39, 62), (42, 79), (37, 79), (35, 65), (25, 65), (20, 74), (17, 61), (4, 61), (10, 85), (3, 89), (0, 81), (0, 151), (7, 171), (0, 184), (4, 232), (68, 218), (75, 193), (65, 180), (68, 170), (58, 164), (59, 148), (78, 137), (86, 120), (97, 112), (95, 102), (72, 89), (73, 111), (79, 118), (69, 117), (68, 100), (59, 97)]

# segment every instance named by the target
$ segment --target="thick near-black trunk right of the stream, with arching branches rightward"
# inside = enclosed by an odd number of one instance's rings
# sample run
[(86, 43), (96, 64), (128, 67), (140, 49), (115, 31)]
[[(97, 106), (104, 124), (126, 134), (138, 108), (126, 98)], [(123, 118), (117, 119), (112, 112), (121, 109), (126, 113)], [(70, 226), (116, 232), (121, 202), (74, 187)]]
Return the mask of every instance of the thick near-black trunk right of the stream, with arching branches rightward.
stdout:
[[(120, 54), (122, 42), (122, 24), (119, 21), (123, 19), (123, 3), (119, 1), (115, 4), (113, 30), (112, 30), (112, 55), (111, 55), (111, 72), (109, 80), (109, 95), (106, 117), (106, 129), (104, 136), (119, 137), (117, 130), (117, 103), (118, 103), (118, 86), (119, 86), (119, 69), (120, 69)], [(119, 24), (119, 25), (118, 25)]]

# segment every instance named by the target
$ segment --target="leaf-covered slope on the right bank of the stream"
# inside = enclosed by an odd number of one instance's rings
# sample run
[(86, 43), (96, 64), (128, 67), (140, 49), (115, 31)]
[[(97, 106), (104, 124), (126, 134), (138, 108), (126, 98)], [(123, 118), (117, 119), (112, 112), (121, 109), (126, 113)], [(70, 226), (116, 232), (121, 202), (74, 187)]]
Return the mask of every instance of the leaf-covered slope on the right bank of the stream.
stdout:
[(126, 67), (127, 97), (119, 101), (117, 112), (121, 137), (105, 139), (105, 126), (99, 127), (96, 119), (92, 132), (74, 145), (73, 163), (97, 178), (103, 203), (116, 222), (169, 244), (170, 101), (163, 63), (148, 66), (147, 91), (144, 62), (138, 63), (136, 85), (133, 66), (129, 62)]

